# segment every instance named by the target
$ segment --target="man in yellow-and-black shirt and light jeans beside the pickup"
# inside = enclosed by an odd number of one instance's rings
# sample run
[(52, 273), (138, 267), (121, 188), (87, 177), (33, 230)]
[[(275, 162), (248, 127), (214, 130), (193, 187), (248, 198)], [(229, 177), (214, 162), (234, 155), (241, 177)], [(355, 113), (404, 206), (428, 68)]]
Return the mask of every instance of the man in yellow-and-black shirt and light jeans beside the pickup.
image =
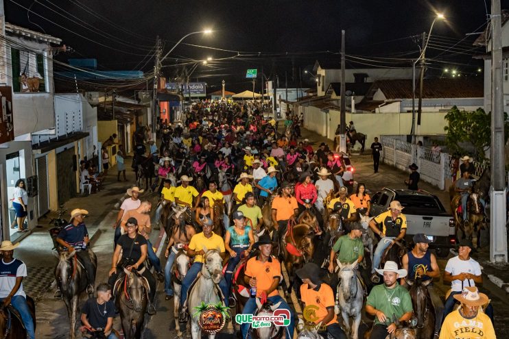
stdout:
[[(381, 238), (373, 254), (371, 273), (375, 273), (375, 268), (378, 268), (380, 265), (383, 251), (385, 251), (390, 244), (405, 237), (407, 232), (407, 217), (405, 214), (401, 213), (402, 210), (403, 206), (401, 206), (399, 201), (391, 201), (387, 212), (375, 216), (375, 218), (372, 218), (369, 222), (369, 227)], [(381, 230), (378, 227), (379, 224), (382, 226)], [(371, 280), (375, 284), (379, 281), (376, 274), (371, 276)]]

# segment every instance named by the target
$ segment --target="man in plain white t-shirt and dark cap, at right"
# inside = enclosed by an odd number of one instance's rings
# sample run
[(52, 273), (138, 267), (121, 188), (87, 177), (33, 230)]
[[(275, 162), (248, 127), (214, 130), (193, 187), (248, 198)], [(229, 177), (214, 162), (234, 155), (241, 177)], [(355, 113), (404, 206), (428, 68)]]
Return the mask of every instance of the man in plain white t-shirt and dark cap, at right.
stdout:
[[(451, 313), (455, 304), (455, 294), (460, 294), (464, 287), (482, 284), (481, 265), (471, 258), (474, 251), (472, 240), (462, 239), (458, 244), (458, 255), (449, 259), (445, 265), (444, 284), (451, 282), (451, 293), (445, 300), (444, 316)], [(486, 307), (486, 314), (493, 323), (493, 306), (491, 303)]]

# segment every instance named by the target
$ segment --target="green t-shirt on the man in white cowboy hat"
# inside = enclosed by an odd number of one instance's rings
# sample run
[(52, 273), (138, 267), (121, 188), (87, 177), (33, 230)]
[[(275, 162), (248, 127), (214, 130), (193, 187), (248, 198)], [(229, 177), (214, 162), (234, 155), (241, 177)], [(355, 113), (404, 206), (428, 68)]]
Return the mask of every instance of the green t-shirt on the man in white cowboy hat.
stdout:
[[(412, 312), (412, 299), (406, 288), (396, 283), (395, 288), (386, 288), (385, 284), (377, 285), (372, 288), (368, 295), (366, 305), (371, 305), (386, 315), (387, 320), (383, 325), (392, 323), (392, 314), (397, 319), (403, 314)], [(375, 316), (375, 325), (381, 324)]]

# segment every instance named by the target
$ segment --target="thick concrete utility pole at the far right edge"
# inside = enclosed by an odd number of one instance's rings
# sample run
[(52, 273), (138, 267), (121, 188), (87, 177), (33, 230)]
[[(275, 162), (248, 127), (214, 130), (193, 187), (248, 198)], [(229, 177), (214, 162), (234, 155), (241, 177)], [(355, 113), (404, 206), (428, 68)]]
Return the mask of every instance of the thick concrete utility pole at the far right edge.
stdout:
[(491, 1), (490, 261), (508, 262), (500, 0)]

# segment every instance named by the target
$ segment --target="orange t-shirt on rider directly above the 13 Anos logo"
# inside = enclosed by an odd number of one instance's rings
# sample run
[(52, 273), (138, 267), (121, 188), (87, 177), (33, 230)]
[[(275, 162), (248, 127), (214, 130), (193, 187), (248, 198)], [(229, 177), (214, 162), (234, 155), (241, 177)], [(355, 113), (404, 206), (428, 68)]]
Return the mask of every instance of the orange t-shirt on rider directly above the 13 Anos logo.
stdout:
[[(266, 262), (261, 262), (256, 256), (248, 260), (245, 274), (248, 277), (257, 278), (257, 297), (261, 297), (261, 292), (268, 290), (275, 278), (279, 278), (279, 281), (281, 281), (281, 264), (274, 257), (270, 257), (270, 260)], [(267, 297), (274, 297), (277, 294), (276, 288)]]

